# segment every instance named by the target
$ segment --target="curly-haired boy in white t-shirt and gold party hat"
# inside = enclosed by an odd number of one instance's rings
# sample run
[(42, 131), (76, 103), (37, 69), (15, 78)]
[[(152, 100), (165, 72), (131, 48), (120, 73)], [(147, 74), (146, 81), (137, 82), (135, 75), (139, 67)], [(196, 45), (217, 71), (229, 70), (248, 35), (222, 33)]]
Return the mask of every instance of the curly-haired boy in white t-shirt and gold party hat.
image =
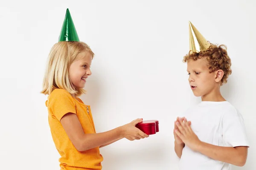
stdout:
[[(195, 47), (192, 30), (200, 51)], [(183, 62), (187, 62), (193, 94), (201, 96), (202, 102), (175, 121), (175, 152), (180, 158), (180, 170), (231, 170), (231, 164), (244, 166), (249, 144), (243, 118), (220, 92), (231, 74), (226, 46), (209, 44), (190, 22), (189, 41), (190, 51)]]

